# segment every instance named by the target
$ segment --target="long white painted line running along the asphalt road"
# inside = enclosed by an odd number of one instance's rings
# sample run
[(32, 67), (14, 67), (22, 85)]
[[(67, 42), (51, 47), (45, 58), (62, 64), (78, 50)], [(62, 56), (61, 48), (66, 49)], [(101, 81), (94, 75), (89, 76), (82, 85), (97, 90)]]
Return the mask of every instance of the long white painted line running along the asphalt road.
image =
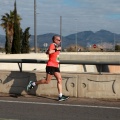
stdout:
[(51, 106), (83, 107), (83, 108), (102, 108), (102, 109), (117, 109), (117, 110), (120, 110), (120, 107), (107, 107), (107, 106), (73, 105), (73, 104), (26, 102), (26, 101), (9, 101), (9, 100), (0, 100), (0, 102), (5, 102), (5, 103), (22, 103), (22, 104), (36, 104), (36, 105), (51, 105)]

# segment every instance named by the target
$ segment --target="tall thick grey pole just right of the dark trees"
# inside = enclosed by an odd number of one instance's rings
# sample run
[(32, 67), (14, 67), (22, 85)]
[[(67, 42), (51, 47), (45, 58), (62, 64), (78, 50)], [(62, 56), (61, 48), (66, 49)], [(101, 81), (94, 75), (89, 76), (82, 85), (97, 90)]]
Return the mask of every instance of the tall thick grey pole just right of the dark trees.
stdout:
[(36, 0), (34, 0), (34, 49), (37, 53), (37, 34), (36, 34)]

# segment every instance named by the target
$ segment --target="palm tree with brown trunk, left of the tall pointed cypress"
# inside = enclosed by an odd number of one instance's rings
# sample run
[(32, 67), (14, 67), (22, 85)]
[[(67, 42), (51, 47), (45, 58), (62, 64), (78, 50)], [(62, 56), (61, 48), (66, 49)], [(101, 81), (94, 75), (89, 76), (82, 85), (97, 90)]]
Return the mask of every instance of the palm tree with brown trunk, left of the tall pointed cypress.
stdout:
[[(20, 24), (21, 17), (17, 15), (18, 23)], [(6, 33), (5, 50), (6, 53), (11, 53), (13, 34), (14, 34), (14, 11), (10, 11), (10, 14), (5, 13), (1, 18), (2, 23), (0, 26), (3, 27)]]

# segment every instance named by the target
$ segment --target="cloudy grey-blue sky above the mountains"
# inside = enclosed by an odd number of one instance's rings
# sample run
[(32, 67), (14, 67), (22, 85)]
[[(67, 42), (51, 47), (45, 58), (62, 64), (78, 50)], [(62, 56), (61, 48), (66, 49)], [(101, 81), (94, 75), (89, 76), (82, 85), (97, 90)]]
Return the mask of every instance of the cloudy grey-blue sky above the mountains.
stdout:
[[(14, 1), (0, 0), (0, 18), (14, 10)], [(34, 0), (16, 3), (23, 31), (30, 27), (34, 35)], [(37, 35), (60, 34), (60, 16), (63, 36), (101, 29), (120, 34), (120, 0), (36, 0)], [(5, 34), (2, 27), (0, 34)]]

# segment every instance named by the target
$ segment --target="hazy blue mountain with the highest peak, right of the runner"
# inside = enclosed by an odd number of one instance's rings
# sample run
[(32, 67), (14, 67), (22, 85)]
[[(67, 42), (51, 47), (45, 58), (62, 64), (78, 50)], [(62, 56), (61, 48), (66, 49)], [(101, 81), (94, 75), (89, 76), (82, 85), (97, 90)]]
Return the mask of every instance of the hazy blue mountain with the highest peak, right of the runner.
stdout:
[[(70, 43), (75, 44), (76, 34), (66, 36)], [(106, 30), (100, 30), (97, 32), (83, 31), (77, 33), (77, 43), (81, 46), (87, 46), (87, 44), (101, 44), (101, 43), (120, 43), (120, 34), (115, 34)]]

